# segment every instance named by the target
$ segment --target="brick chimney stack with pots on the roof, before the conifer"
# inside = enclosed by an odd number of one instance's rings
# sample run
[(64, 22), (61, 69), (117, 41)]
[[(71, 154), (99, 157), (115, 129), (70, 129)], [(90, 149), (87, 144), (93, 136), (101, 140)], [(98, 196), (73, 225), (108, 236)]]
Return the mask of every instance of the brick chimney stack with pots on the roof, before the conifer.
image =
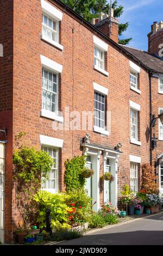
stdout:
[(118, 20), (114, 18), (114, 9), (110, 8), (108, 14), (100, 13), (91, 23), (118, 44)]

